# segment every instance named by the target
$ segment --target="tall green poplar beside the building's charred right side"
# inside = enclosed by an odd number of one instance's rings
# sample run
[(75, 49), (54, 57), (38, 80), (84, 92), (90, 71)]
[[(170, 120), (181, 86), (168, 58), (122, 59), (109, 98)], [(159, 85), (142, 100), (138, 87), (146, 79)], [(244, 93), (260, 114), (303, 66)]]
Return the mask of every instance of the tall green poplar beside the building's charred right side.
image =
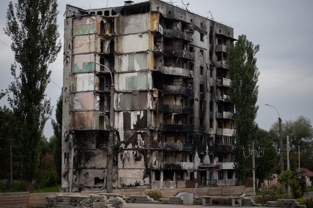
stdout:
[(242, 146), (249, 144), (256, 136), (257, 125), (255, 124), (259, 72), (256, 67), (255, 54), (259, 45), (246, 39), (245, 35), (239, 35), (235, 44), (227, 46), (228, 75), (231, 80), (230, 97), (235, 106), (234, 124), (235, 135), (235, 162), (236, 177), (239, 184), (247, 176), (250, 163), (242, 155)]

